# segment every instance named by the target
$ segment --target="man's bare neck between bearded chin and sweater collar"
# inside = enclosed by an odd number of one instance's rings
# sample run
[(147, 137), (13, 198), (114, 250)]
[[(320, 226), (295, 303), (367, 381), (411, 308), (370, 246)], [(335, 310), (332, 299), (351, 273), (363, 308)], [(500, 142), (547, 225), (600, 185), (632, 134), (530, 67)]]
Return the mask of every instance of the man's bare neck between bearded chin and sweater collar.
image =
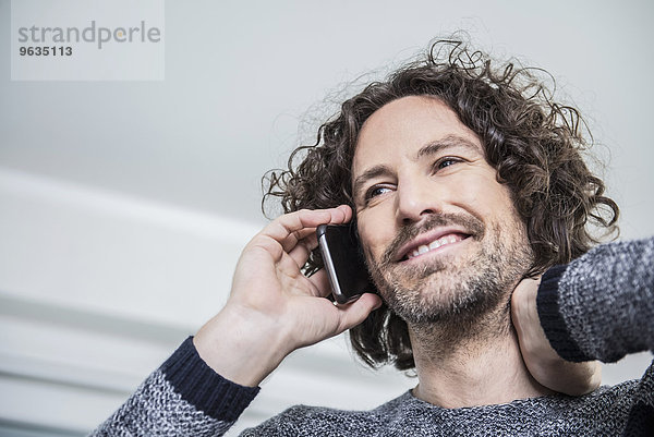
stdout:
[(508, 306), (462, 328), (441, 325), (409, 326), (419, 399), (456, 409), (552, 393), (524, 365)]

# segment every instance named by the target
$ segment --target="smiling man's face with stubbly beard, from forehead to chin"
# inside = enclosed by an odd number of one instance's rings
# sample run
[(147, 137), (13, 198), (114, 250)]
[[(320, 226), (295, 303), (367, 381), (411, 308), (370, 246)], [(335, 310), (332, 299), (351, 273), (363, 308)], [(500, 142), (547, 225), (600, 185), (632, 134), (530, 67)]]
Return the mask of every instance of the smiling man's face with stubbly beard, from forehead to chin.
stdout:
[(508, 302), (532, 253), (480, 138), (435, 98), (393, 100), (364, 123), (352, 165), (359, 233), (375, 283), (407, 321)]

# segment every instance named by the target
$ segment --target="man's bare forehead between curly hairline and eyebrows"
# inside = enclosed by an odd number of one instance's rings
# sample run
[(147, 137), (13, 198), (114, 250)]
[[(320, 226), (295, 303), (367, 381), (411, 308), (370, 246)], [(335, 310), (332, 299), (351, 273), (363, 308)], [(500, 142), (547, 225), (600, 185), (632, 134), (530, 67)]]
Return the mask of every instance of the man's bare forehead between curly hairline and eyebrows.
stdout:
[(429, 143), (457, 136), (479, 147), (474, 132), (446, 104), (434, 97), (409, 96), (375, 111), (363, 124), (356, 142), (352, 172), (400, 159), (413, 159)]

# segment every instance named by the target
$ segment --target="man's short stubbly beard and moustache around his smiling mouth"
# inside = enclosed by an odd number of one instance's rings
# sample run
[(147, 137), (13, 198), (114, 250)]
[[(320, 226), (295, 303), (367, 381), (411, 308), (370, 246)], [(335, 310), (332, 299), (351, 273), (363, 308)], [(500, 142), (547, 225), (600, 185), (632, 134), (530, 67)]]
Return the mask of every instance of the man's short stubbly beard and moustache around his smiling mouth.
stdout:
[[(465, 244), (472, 247), (428, 263), (397, 262), (398, 248), (408, 241), (451, 224), (467, 230), (471, 241)], [(462, 333), (498, 308), (506, 308), (501, 319), (508, 317), (510, 293), (529, 270), (533, 252), (518, 217), (485, 227), (473, 216), (441, 214), (402, 228), (379, 262), (370, 253), (366, 259), (379, 294), (404, 321), (416, 327), (437, 324)]]

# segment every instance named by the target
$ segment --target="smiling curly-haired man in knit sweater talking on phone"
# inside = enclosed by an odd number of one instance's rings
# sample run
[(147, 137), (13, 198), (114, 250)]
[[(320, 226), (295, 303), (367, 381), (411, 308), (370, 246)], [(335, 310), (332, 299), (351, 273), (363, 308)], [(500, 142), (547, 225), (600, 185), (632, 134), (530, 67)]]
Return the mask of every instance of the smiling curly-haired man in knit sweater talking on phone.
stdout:
[[(368, 412), (298, 406), (245, 435), (651, 430), (654, 371), (594, 390), (590, 360), (654, 345), (654, 241), (583, 255), (589, 220), (610, 231), (618, 209), (579, 125), (528, 71), (447, 41), (370, 85), (271, 173), (288, 214), (244, 248), (225, 308), (96, 435), (220, 435), (289, 353), (347, 329), (368, 364), (415, 367), (417, 387)], [(315, 229), (350, 220), (378, 295), (339, 306)]]

